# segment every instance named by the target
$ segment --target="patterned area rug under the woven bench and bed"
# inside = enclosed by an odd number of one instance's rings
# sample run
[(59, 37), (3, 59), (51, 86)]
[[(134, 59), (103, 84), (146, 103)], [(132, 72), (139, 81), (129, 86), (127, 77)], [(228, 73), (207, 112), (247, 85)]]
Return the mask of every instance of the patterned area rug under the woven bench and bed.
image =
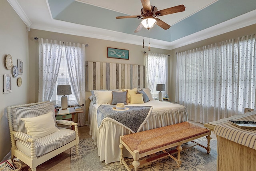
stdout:
[[(195, 140), (202, 145), (207, 144), (205, 137)], [(148, 165), (140, 166), (138, 171), (216, 171), (217, 165), (217, 141), (210, 141), (210, 154), (206, 149), (196, 145), (181, 152), (182, 166), (177, 167), (176, 162), (166, 157)], [(93, 139), (82, 139), (79, 143), (79, 155), (76, 156), (75, 148), (71, 148), (71, 171), (126, 171), (120, 162), (105, 164), (100, 161), (97, 145)], [(160, 152), (161, 153), (161, 152)], [(152, 157), (152, 156), (151, 156)], [(132, 159), (126, 158), (129, 163)]]

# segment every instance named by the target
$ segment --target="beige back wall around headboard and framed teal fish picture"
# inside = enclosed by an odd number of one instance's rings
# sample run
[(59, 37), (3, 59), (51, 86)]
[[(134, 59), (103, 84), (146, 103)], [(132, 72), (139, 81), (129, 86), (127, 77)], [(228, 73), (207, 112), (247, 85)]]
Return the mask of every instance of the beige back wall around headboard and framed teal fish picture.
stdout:
[[(34, 37), (60, 40), (63, 42), (75, 42), (80, 44), (88, 44), (89, 46), (85, 48), (86, 61), (93, 62), (110, 62), (119, 64), (137, 64), (145, 65), (144, 51), (148, 52), (147, 47), (142, 48), (142, 46), (126, 44), (120, 42), (113, 42), (108, 40), (100, 40), (94, 38), (87, 38), (82, 36), (74, 36), (68, 34), (61, 34), (55, 32), (47, 32), (42, 30), (31, 29), (29, 32), (29, 71), (30, 75), (30, 101), (38, 101), (38, 41), (34, 40)], [(147, 46), (147, 45), (145, 45)], [(107, 47), (120, 48), (129, 50), (129, 60), (113, 59), (107, 58)], [(170, 50), (163, 50), (158, 48), (151, 48), (152, 53), (158, 54), (169, 54)], [(88, 102), (88, 97), (91, 95), (90, 91), (86, 92), (86, 99)], [(87, 109), (88, 109), (88, 103)], [(88, 110), (86, 110), (86, 119), (88, 119)]]

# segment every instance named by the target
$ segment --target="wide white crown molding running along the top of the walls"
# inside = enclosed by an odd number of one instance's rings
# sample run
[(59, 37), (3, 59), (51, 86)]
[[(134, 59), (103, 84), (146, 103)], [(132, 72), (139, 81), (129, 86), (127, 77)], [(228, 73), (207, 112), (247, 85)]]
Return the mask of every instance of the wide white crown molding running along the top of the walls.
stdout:
[[(54, 20), (50, 18), (47, 21), (37, 21), (36, 23), (31, 23), (29, 18), (26, 16), (17, 0), (8, 0), (12, 8), (16, 11), (16, 13), (20, 16), (20, 18), (24, 21), (24, 23), (33, 29), (45, 30), (50, 32), (58, 32), (63, 34), (71, 34), (76, 36), (84, 36), (89, 38), (96, 38), (102, 40), (110, 40), (114, 42), (123, 42), (128, 44), (142, 45), (142, 36), (136, 36), (132, 34), (126, 34), (121, 32), (116, 32), (112, 30), (106, 30), (102, 28), (95, 28), (91, 26), (84, 26), (81, 24), (74, 24), (70, 22), (64, 22), (60, 20)], [(48, 4), (47, 4), (48, 6)], [(49, 8), (49, 6), (48, 6)], [(166, 50), (172, 50), (175, 48), (179, 48), (182, 46), (186, 46), (188, 44), (192, 44), (201, 40), (205, 40), (207, 38), (211, 38), (214, 36), (218, 36), (220, 34), (224, 34), (233, 30), (237, 30), (239, 28), (243, 28), (246, 26), (250, 26), (252, 24), (256, 24), (256, 10), (248, 12), (246, 14), (242, 14), (236, 18), (232, 18), (227, 20), (226, 22), (222, 22), (210, 28), (206, 28), (189, 36), (185, 36), (173, 42), (167, 42), (157, 39), (150, 38), (150, 46), (152, 48), (160, 48)], [(147, 39), (145, 39), (145, 43), (147, 43)]]

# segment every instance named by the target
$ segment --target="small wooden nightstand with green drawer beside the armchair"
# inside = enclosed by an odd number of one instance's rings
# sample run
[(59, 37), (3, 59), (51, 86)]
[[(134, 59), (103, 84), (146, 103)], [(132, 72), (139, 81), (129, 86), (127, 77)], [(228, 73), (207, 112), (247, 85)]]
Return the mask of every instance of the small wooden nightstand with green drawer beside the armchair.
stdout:
[[(62, 110), (60, 108), (58, 111), (55, 111), (55, 117), (56, 117), (56, 120), (64, 119), (64, 120), (75, 121), (75, 118), (77, 118), (76, 117), (77, 114), (82, 112), (84, 112), (83, 109), (75, 110), (74, 107), (68, 107), (68, 109), (66, 110)], [(74, 126), (72, 126), (72, 129), (74, 130)]]

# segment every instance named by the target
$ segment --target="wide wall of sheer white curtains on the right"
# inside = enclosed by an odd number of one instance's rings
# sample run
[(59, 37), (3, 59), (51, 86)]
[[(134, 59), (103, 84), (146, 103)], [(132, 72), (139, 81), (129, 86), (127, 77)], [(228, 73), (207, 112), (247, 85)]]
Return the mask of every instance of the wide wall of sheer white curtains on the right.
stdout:
[(177, 54), (176, 101), (207, 123), (254, 108), (255, 35)]

